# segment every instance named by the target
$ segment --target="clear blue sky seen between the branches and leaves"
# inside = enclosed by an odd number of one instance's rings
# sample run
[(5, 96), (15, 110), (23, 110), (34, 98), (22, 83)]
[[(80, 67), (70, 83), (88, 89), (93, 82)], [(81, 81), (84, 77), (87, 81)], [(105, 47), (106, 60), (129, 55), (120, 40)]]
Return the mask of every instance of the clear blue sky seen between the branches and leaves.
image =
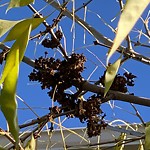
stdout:
[[(8, 1), (0, 1), (0, 6), (4, 4), (5, 2)], [(62, 2), (62, 0), (60, 0)], [(76, 8), (79, 8), (82, 3), (86, 1), (76, 1)], [(46, 3), (44, 1), (35, 1), (35, 4), (33, 5), (37, 10), (42, 9), (44, 6), (46, 6)], [(68, 8), (72, 7), (72, 3), (70, 2)], [(22, 8), (14, 8), (8, 11), (7, 14), (5, 14), (7, 5), (4, 7), (0, 7), (0, 19), (10, 19), (10, 20), (19, 20), (19, 19), (24, 19), (24, 18), (30, 18), (33, 16), (33, 13), (28, 7), (22, 7)], [(42, 13), (44, 16), (49, 15), (52, 13), (55, 9), (50, 7), (49, 5), (43, 9)], [(88, 7), (87, 7), (87, 22), (93, 26), (97, 31), (100, 33), (104, 34), (104, 36), (110, 38), (113, 40), (115, 34), (111, 31), (108, 26), (104, 25), (101, 19), (98, 18), (96, 14), (99, 14), (108, 24), (110, 24), (113, 28), (116, 28), (117, 22), (119, 19), (119, 4), (117, 3), (116, 0), (112, 1), (106, 1), (106, 0), (100, 0), (100, 1), (92, 1)], [(146, 17), (147, 13), (149, 11), (149, 8), (146, 9), (144, 12), (143, 16)], [(84, 17), (84, 9), (80, 10), (79, 12), (76, 13), (78, 16), (81, 18)], [(47, 22), (49, 24), (52, 23), (52, 20), (56, 18), (58, 15), (58, 12), (54, 12), (53, 15), (51, 15), (48, 19)], [(116, 18), (113, 22), (111, 22), (112, 19)], [(72, 21), (69, 20), (67, 17), (63, 18), (62, 21), (59, 23), (59, 28), (61, 27), (63, 30), (63, 33), (65, 35), (66, 39), (66, 49), (68, 54), (72, 52), (72, 47), (73, 47), (73, 32), (71, 32), (71, 26), (72, 26)], [(141, 21), (138, 21), (136, 28), (141, 30), (143, 29), (143, 25)], [(45, 30), (43, 25), (40, 25), (38, 29), (33, 31), (31, 35), (35, 35), (36, 33), (39, 33), (40, 31)], [(131, 38), (134, 41), (137, 41), (136, 36), (138, 33), (132, 32), (131, 33)], [(5, 36), (4, 36), (5, 37)], [(2, 40), (4, 37), (2, 37), (0, 40)], [(83, 77), (85, 79), (88, 79), (88, 77), (91, 75), (93, 72), (90, 80), (96, 81), (98, 78), (103, 74), (105, 68), (102, 66), (99, 60), (101, 60), (104, 64), (106, 62), (106, 53), (108, 51), (108, 48), (104, 48), (101, 46), (88, 46), (92, 45), (93, 41), (95, 40), (89, 33), (86, 32), (86, 43), (83, 43), (83, 37), (84, 37), (84, 30), (79, 26), (75, 25), (75, 52), (77, 53), (83, 53), (87, 57), (87, 62), (86, 62), (86, 69), (83, 72)], [(40, 42), (41, 39), (35, 39), (33, 41), (30, 41), (28, 48), (26, 50), (26, 56), (28, 56), (31, 59), (38, 58), (39, 56), (44, 56), (44, 52), (48, 51), (48, 56), (52, 57), (54, 56), (55, 58), (61, 58), (60, 53), (57, 50), (51, 50), (51, 49), (46, 49), (43, 46), (41, 46)], [(62, 44), (64, 45), (63, 42), (64, 38), (62, 39)], [(143, 42), (148, 42), (148, 39), (142, 38)], [(12, 43), (6, 43), (8, 46), (11, 46)], [(125, 43), (123, 43), (125, 44)], [(148, 44), (148, 43), (146, 43)], [(88, 49), (81, 48), (83, 46), (86, 46)], [(148, 48), (140, 47), (136, 49), (139, 53), (142, 53), (145, 56), (150, 56), (150, 52), (148, 51)], [(96, 59), (93, 54), (98, 57)], [(115, 56), (118, 56), (116, 54)], [(114, 58), (116, 58), (114, 56)], [(2, 66), (3, 67), (3, 66)], [(2, 70), (2, 67), (0, 69)], [(97, 68), (97, 69), (96, 69)], [(96, 69), (94, 71), (94, 69)], [(150, 97), (150, 92), (149, 92), (149, 85), (150, 85), (150, 71), (149, 71), (149, 66), (142, 64), (140, 62), (137, 62), (135, 60), (129, 60), (127, 61), (119, 70), (119, 72), (122, 74), (124, 72), (124, 69), (128, 70), (129, 72), (132, 72), (134, 75), (137, 76), (135, 79), (135, 86), (129, 88), (129, 92), (134, 93), (137, 96), (143, 96), (143, 97)], [(48, 108), (51, 106), (51, 99), (47, 95), (47, 90), (41, 90), (39, 83), (36, 82), (30, 82), (28, 79), (28, 75), (32, 71), (32, 68), (24, 63), (21, 63), (20, 66), (20, 75), (18, 79), (18, 88), (17, 88), (17, 95), (21, 97), (39, 116), (45, 115), (49, 112)], [(113, 104), (113, 102), (111, 102)], [(130, 104), (123, 103), (123, 102), (118, 102), (115, 101), (115, 106), (122, 108), (111, 108), (109, 104), (104, 104), (102, 106), (103, 111), (106, 113), (106, 119), (108, 121), (112, 121), (116, 118), (125, 120), (127, 122), (140, 122), (140, 120), (135, 116), (132, 115), (131, 113), (134, 113), (133, 108), (130, 106)], [(149, 121), (149, 117), (147, 116), (147, 113), (149, 112), (148, 107), (144, 106), (139, 106), (136, 105), (138, 108), (139, 112), (141, 113), (141, 116), (145, 121)], [(129, 111), (129, 112), (125, 112)], [(115, 114), (115, 116), (114, 116)], [(4, 117), (2, 116), (2, 113), (0, 112), (0, 127), (5, 128), (6, 124)], [(29, 121), (31, 119), (37, 118), (35, 114), (31, 112), (18, 99), (18, 119), (19, 119), (19, 124), (22, 124), (26, 121)], [(77, 119), (71, 119), (69, 121), (65, 121), (64, 126), (66, 127), (78, 127), (78, 126), (85, 126), (85, 124), (81, 124)]]

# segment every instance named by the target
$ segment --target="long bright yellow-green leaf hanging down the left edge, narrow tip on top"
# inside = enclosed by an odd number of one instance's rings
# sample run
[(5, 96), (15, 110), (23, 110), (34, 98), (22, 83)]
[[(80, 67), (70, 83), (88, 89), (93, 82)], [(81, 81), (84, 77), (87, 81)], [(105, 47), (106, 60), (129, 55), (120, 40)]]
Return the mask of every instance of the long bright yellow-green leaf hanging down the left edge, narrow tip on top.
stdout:
[(7, 74), (4, 80), (3, 89), (1, 90), (0, 106), (8, 122), (9, 130), (15, 141), (18, 143), (19, 127), (17, 121), (17, 102), (15, 92), (19, 72), (19, 49), (15, 50), (14, 55), (14, 66)]

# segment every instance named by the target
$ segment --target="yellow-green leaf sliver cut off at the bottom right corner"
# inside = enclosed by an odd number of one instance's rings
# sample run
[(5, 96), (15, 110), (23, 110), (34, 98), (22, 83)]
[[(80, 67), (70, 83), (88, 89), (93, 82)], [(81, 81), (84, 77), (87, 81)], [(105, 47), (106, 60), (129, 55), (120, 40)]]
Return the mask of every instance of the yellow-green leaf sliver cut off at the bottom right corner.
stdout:
[(146, 124), (145, 127), (145, 144), (144, 144), (145, 150), (150, 150), (150, 122)]

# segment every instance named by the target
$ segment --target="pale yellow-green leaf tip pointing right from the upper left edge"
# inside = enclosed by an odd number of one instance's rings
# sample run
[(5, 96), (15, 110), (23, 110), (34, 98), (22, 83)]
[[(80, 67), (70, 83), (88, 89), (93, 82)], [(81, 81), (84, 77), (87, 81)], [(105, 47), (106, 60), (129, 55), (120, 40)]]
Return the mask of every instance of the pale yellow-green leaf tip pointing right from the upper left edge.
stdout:
[(0, 19), (0, 37), (3, 36), (8, 30), (10, 30), (14, 25), (20, 21), (10, 21)]

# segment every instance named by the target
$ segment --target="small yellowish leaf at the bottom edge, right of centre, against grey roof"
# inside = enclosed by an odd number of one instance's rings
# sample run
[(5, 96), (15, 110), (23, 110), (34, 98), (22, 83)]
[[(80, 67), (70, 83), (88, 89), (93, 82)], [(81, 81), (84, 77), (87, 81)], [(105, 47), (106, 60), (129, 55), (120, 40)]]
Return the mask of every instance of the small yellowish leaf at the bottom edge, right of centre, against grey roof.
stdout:
[(121, 133), (119, 138), (117, 139), (117, 145), (115, 146), (114, 150), (123, 150), (124, 149), (124, 143), (123, 140), (126, 139), (126, 133)]

